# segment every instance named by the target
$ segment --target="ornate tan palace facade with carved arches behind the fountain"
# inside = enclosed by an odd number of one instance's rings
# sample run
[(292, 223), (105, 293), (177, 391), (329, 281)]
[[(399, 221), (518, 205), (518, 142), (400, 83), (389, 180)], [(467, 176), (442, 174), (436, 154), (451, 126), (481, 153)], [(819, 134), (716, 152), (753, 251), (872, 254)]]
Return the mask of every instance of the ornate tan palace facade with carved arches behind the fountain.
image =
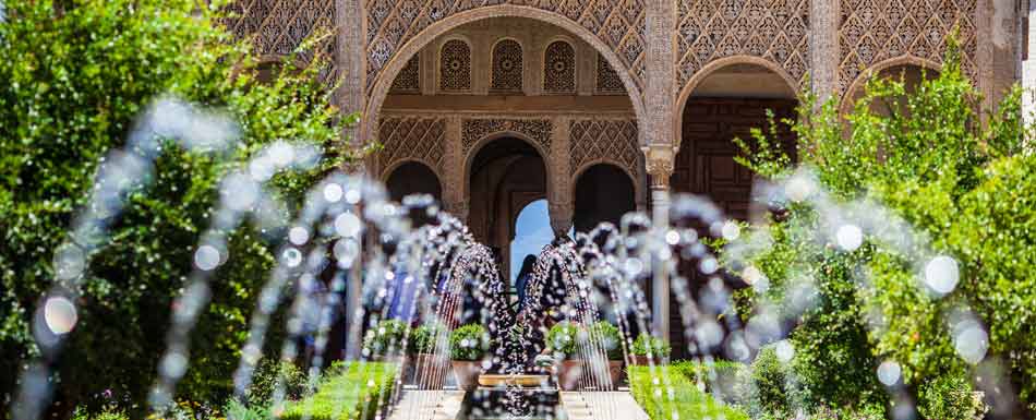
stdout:
[[(947, 38), (991, 107), (1023, 76), (1027, 0), (240, 0), (227, 24), (277, 59), (332, 61), (366, 170), (430, 192), (505, 248), (545, 197), (567, 231), (707, 194), (746, 217), (731, 140), (808, 89), (845, 109), (870, 74), (938, 72)], [(309, 58), (303, 53), (301, 59)], [(1027, 73), (1026, 73), (1027, 74)], [(506, 255), (506, 253), (505, 253)], [(505, 261), (505, 264), (507, 262)], [(664, 285), (655, 296), (665, 296)], [(656, 314), (665, 327), (666, 304)]]

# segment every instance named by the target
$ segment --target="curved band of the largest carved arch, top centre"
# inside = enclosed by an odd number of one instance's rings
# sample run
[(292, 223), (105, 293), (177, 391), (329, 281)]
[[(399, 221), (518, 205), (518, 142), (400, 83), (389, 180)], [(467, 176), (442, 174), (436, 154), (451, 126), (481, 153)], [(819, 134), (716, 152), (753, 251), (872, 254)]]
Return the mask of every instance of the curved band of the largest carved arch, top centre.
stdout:
[[(570, 19), (554, 12), (528, 7), (503, 4), (481, 7), (453, 14), (429, 25), (417, 35), (411, 36), (402, 47), (398, 48), (391, 55), (391, 59), (389, 59), (389, 61), (376, 73), (377, 80), (374, 82), (373, 88), (369, 95), (365, 107), (366, 111), (364, 112), (361, 124), (361, 139), (374, 139), (374, 130), (376, 129), (378, 115), (381, 112), (382, 105), (385, 101), (385, 97), (388, 95), (388, 91), (391, 88), (393, 81), (396, 79), (402, 68), (407, 65), (407, 62), (410, 61), (411, 57), (421, 51), (422, 48), (427, 46), (434, 39), (454, 28), (467, 23), (492, 17), (526, 17), (545, 22), (547, 24), (558, 26), (589, 44), (591, 47), (593, 47), (593, 49), (601, 53), (602, 57), (604, 57), (604, 59), (610, 65), (612, 65), (613, 69), (616, 70), (616, 73), (623, 81), (623, 85), (626, 87), (626, 93), (629, 96), (630, 103), (633, 104), (637, 120), (646, 121), (646, 110), (641, 99), (642, 97), (640, 87), (630, 77), (630, 69), (623, 63), (615, 51), (605, 45), (598, 35), (591, 33), (576, 22), (573, 22)], [(639, 143), (645, 143), (643, 137), (643, 131), (638, 133)]]

